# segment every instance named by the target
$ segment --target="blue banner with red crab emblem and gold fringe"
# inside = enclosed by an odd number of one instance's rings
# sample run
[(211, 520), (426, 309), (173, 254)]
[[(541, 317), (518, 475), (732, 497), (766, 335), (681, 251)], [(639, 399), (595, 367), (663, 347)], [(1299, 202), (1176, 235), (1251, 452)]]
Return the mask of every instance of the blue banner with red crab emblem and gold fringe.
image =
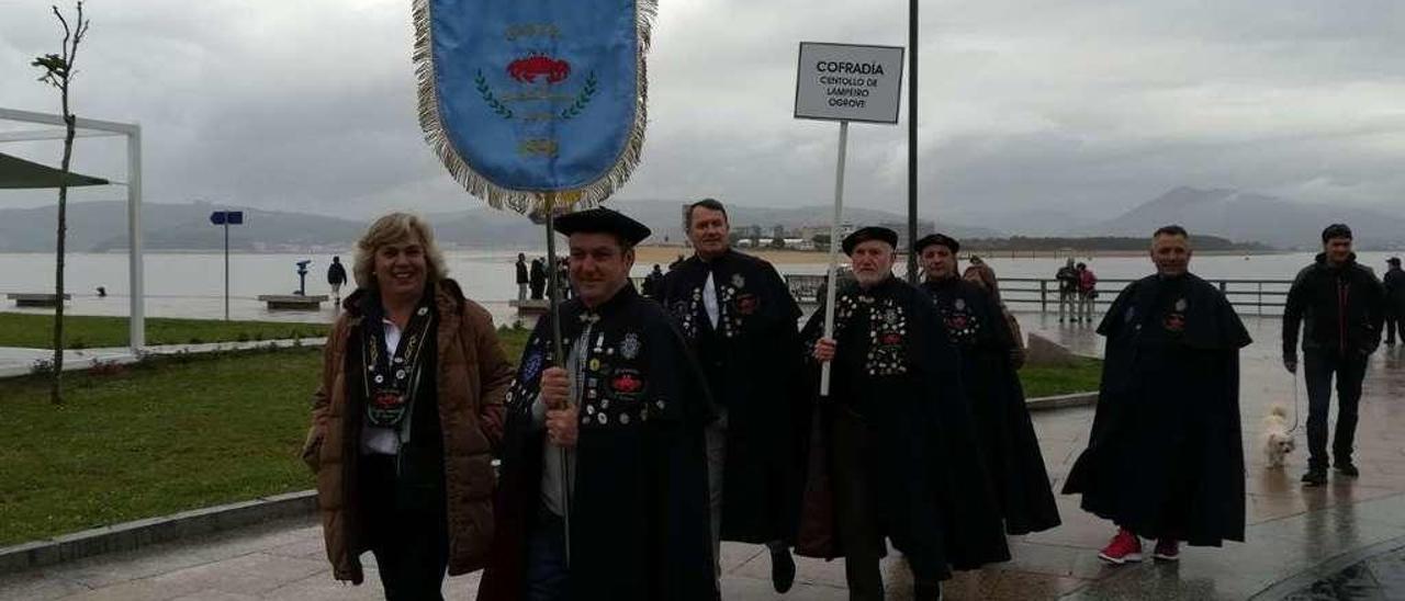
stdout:
[(495, 208), (594, 206), (643, 147), (656, 0), (416, 0), (420, 126)]

